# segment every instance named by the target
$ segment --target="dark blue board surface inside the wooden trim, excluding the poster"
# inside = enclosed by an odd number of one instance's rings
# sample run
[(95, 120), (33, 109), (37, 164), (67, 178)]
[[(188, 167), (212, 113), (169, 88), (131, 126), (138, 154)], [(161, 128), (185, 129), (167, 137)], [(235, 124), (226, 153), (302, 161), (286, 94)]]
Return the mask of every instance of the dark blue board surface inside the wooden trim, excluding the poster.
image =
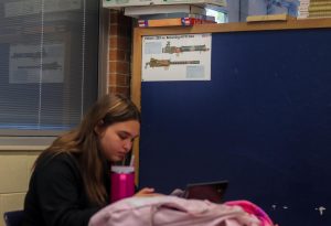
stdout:
[(211, 71), (141, 83), (139, 185), (228, 180), (280, 226), (330, 226), (331, 29), (213, 32)]

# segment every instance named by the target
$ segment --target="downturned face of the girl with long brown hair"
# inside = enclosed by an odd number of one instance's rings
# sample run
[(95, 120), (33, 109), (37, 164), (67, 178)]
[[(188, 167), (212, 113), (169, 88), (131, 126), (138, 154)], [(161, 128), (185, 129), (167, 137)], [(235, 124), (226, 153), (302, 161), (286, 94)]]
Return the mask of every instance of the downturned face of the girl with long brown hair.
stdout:
[(116, 122), (102, 129), (98, 132), (102, 153), (111, 162), (122, 161), (139, 136), (139, 129), (137, 120)]

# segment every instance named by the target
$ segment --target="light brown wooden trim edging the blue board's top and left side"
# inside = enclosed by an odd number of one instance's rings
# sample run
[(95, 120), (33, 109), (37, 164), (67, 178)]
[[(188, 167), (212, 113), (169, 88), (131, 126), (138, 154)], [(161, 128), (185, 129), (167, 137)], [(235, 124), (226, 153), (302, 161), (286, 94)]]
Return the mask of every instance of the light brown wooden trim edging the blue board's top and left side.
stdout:
[[(141, 50), (142, 36), (188, 34), (188, 33), (225, 33), (273, 30), (330, 29), (331, 19), (305, 19), (288, 21), (260, 21), (250, 23), (201, 24), (194, 26), (136, 28), (134, 31), (131, 99), (141, 110)], [(143, 111), (143, 109), (142, 109)], [(134, 143), (136, 183), (139, 179), (139, 140)]]

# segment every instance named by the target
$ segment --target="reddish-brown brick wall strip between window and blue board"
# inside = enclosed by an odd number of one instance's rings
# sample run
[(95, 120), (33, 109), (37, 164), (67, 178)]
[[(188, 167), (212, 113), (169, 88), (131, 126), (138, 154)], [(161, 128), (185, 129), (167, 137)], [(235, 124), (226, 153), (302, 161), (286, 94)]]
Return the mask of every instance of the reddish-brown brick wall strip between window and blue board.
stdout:
[(132, 19), (110, 11), (108, 93), (130, 95)]

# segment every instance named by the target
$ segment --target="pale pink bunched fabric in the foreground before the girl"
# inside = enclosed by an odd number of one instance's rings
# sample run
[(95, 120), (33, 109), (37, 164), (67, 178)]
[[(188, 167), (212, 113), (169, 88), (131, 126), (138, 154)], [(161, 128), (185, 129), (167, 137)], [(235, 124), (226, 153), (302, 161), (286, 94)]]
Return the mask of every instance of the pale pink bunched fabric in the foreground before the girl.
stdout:
[(89, 226), (260, 226), (239, 206), (175, 196), (130, 197), (96, 213)]

